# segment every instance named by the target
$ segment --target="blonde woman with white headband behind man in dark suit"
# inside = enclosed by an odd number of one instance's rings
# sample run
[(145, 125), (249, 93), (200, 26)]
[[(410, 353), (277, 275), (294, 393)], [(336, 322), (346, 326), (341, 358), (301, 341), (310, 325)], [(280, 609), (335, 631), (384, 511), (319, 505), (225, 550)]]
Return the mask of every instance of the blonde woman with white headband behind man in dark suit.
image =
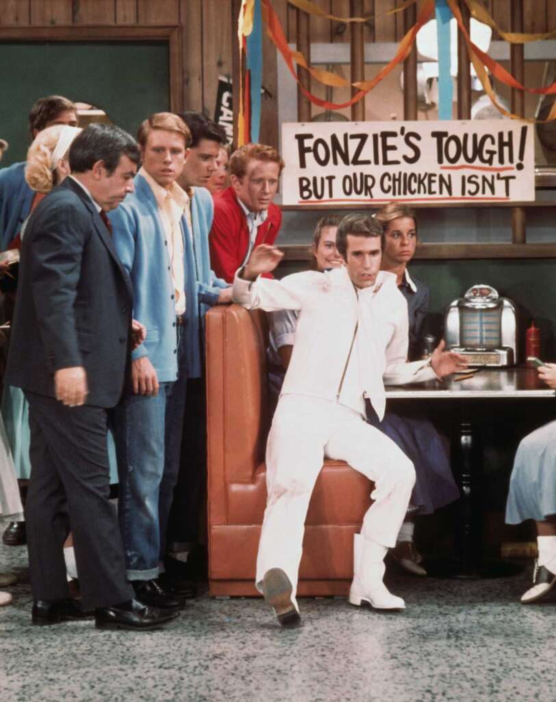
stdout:
[[(35, 192), (31, 213), (41, 199), (69, 175), (69, 147), (80, 131), (79, 127), (55, 124), (36, 135), (27, 151), (27, 165), (25, 166), (25, 180)], [(27, 220), (22, 224), (18, 236), (13, 239), (10, 249), (20, 248), (21, 239), (25, 236)], [(11, 267), (10, 273), (10, 277), (3, 279), (1, 289), (4, 293), (15, 293), (17, 271), (14, 266)], [(4, 388), (1, 411), (4, 416), (8, 443), (11, 446), (15, 473), (19, 479), (29, 479), (31, 464), (29, 462), (28, 408), (25, 397), (19, 388), (13, 388), (10, 385)], [(25, 543), (25, 522), (21, 519), (10, 522), (4, 531), (3, 541), (7, 545)]]

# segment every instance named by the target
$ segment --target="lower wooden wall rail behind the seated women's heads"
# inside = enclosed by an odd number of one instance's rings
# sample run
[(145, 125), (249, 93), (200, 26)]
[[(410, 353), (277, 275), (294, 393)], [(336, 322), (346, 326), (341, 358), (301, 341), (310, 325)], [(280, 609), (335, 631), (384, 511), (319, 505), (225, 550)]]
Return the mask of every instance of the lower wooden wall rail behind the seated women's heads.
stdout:
[[(283, 260), (308, 261), (308, 244), (284, 244)], [(477, 260), (480, 258), (556, 258), (556, 244), (419, 244), (414, 259)]]

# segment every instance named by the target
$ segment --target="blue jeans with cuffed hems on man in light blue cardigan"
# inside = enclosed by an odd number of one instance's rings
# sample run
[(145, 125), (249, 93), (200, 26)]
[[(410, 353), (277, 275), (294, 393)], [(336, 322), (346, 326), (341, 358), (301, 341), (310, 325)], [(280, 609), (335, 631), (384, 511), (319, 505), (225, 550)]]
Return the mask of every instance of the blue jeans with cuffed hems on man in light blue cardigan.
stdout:
[[(161, 383), (158, 395), (129, 395), (114, 410), (114, 439), (120, 492), (118, 518), (128, 580), (158, 576), (161, 534), (165, 534), (179, 466), (187, 371), (184, 327), (177, 326), (178, 377)], [(171, 485), (171, 486), (170, 486)]]

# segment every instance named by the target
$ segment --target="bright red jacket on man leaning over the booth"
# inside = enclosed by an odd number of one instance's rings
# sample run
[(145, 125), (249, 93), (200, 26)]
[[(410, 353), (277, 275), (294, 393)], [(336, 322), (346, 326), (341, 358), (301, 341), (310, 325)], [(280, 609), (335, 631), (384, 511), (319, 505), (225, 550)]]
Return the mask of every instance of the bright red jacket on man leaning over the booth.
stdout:
[[(273, 244), (281, 223), (282, 213), (271, 203), (269, 215), (257, 230), (255, 246)], [(219, 278), (232, 283), (233, 276), (243, 263), (249, 248), (249, 227), (236, 192), (231, 186), (215, 197), (215, 216), (208, 243), (212, 270)]]

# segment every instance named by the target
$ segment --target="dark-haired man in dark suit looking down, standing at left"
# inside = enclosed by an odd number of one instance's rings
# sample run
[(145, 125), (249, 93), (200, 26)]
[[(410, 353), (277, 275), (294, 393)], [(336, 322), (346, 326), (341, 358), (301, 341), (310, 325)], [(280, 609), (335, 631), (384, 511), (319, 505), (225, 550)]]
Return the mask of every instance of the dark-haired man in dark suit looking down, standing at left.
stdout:
[(126, 384), (132, 298), (105, 213), (133, 192), (139, 159), (128, 133), (88, 126), (69, 152), (73, 175), (39, 204), (23, 238), (6, 382), (29, 401), (36, 624), (91, 616), (69, 598), (70, 528), (83, 606), (95, 608), (98, 628), (153, 628), (177, 616), (134, 599), (109, 503), (107, 417)]

